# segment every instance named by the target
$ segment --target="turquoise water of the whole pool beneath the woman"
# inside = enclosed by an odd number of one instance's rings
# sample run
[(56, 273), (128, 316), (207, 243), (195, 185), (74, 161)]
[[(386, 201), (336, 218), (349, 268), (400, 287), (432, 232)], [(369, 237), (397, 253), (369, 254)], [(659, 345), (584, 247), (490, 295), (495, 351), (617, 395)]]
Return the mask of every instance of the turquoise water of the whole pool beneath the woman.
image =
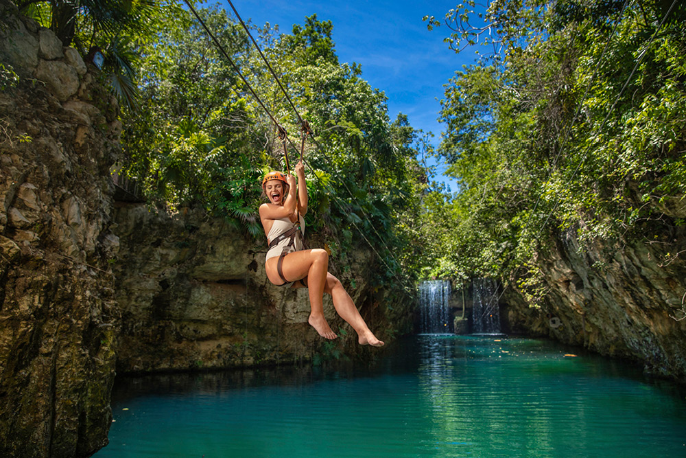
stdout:
[(104, 457), (686, 457), (686, 398), (532, 339), (417, 336), (365, 369), (123, 378)]

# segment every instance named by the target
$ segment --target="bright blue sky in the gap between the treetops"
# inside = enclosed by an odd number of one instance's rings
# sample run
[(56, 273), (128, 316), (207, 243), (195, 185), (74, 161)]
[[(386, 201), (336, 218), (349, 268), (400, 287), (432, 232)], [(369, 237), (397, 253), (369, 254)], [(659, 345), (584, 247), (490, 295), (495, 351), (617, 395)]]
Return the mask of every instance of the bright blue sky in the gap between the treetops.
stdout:
[[(440, 141), (442, 126), (436, 120), (446, 84), (462, 65), (474, 61), (475, 54), (455, 54), (443, 38), (445, 25), (429, 32), (423, 16), (442, 19), (456, 0), (232, 0), (244, 21), (256, 25), (278, 24), (290, 33), (294, 23), (317, 14), (320, 21), (333, 23), (333, 41), (340, 62), (362, 65), (362, 77), (386, 93), (390, 119), (405, 113), (414, 128), (431, 131), (434, 145)], [(220, 2), (231, 12), (226, 1)], [(440, 168), (440, 167), (439, 167)], [(445, 182), (456, 190), (453, 180)]]

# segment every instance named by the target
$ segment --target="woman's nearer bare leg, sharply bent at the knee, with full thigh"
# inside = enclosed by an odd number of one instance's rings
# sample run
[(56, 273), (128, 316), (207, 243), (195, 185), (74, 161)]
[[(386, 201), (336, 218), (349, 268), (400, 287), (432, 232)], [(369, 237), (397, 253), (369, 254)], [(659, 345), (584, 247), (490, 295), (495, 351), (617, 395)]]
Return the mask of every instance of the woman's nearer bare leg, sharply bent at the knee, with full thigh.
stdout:
[[(265, 262), (267, 277), (273, 284), (283, 282), (276, 269), (277, 262), (279, 262), (278, 257), (272, 257)], [(327, 282), (328, 268), (329, 253), (322, 249), (288, 253), (283, 258), (281, 265), (283, 276), (289, 282), (307, 277), (311, 308), (307, 322), (317, 330), (320, 336), (326, 339), (335, 339), (337, 336), (324, 317), (324, 286)]]

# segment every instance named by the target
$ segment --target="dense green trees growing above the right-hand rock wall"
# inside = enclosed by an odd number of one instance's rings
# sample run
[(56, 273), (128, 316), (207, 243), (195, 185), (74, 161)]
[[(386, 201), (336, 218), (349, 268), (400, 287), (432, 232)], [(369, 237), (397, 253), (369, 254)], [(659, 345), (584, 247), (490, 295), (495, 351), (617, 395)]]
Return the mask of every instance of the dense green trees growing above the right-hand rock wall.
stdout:
[(451, 49), (487, 50), (442, 101), (439, 152), (460, 192), (425, 199), (426, 275), (534, 286), (560, 233), (617, 247), (646, 220), (683, 225), (663, 210), (686, 195), (685, 19), (672, 0), (495, 0), (425, 18), (450, 28)]

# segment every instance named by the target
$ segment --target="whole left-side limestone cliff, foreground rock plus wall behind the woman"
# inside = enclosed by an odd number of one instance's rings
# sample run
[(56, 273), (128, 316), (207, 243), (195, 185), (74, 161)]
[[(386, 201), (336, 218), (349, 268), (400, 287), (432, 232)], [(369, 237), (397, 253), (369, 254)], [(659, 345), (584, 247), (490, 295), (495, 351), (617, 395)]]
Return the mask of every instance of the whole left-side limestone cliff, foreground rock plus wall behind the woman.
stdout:
[[(269, 285), (263, 244), (226, 222), (115, 209), (116, 101), (75, 49), (17, 18), (0, 3), (0, 456), (84, 457), (106, 444), (115, 364), (146, 372), (375, 354), (331, 302), (341, 338), (321, 339), (307, 324), (307, 291)], [(374, 256), (357, 250), (354, 274), (339, 277), (390, 340), (410, 332), (412, 302), (401, 285), (369, 283)]]

